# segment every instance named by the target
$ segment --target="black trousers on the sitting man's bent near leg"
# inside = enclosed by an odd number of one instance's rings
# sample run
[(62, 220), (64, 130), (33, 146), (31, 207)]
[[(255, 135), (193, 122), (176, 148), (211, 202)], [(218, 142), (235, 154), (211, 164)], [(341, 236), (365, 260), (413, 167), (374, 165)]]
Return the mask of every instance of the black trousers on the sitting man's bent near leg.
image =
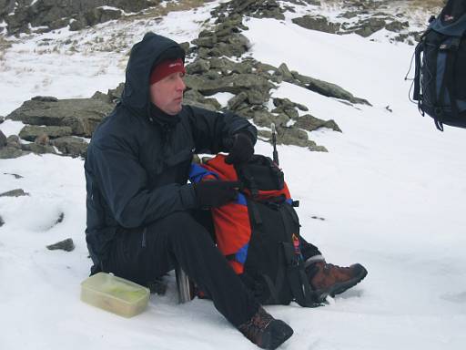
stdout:
[(258, 311), (258, 302), (218, 251), (209, 230), (189, 212), (170, 214), (144, 228), (119, 230), (104, 269), (146, 284), (177, 264), (231, 324), (238, 327)]

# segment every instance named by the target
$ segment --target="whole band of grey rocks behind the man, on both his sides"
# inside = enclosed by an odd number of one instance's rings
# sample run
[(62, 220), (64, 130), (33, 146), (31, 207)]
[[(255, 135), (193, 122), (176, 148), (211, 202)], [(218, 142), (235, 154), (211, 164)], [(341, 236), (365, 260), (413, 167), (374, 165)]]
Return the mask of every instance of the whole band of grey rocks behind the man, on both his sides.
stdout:
[[(341, 132), (339, 126), (333, 120), (313, 117), (309, 108), (289, 98), (272, 98), (278, 85), (285, 81), (350, 104), (369, 102), (335, 84), (290, 70), (286, 64), (273, 67), (244, 57), (250, 43), (242, 34), (248, 30), (243, 24), (243, 16), (282, 18), (283, 12), (276, 1), (233, 0), (218, 5), (212, 11), (216, 18), (214, 25), (200, 32), (191, 43), (184, 44), (189, 62), (185, 77), (185, 104), (210, 110), (232, 110), (261, 127), (259, 135), (264, 140), (270, 139), (269, 128), (273, 123), (279, 144), (326, 151), (309, 140), (309, 131), (329, 128)], [(124, 85), (120, 84), (106, 94), (96, 92), (92, 98), (58, 100), (35, 97), (25, 101), (6, 116), (25, 123), (19, 133), (21, 139), (12, 136), (2, 141), (0, 137), (0, 144), (3, 144), (0, 158), (19, 157), (29, 152), (84, 157), (88, 138), (114, 108), (123, 88)], [(218, 102), (220, 93), (232, 95), (227, 106), (222, 107)]]

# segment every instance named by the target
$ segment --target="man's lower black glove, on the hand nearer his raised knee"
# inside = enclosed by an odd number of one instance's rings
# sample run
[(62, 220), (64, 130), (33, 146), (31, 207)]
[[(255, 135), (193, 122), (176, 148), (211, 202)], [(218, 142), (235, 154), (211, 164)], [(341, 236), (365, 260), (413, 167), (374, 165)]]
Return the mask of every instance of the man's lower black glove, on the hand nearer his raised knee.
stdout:
[(217, 208), (238, 198), (238, 181), (208, 180), (193, 184), (200, 208)]

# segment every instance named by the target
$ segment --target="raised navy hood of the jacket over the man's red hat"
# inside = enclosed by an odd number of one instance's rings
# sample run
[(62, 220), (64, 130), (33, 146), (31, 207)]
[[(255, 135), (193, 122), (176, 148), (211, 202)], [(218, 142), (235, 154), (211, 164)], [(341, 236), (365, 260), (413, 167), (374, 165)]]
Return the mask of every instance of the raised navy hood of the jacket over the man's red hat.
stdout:
[(149, 75), (152, 67), (166, 59), (182, 58), (185, 51), (175, 41), (165, 36), (147, 33), (131, 48), (127, 63), (125, 88), (121, 95), (124, 106), (138, 114), (147, 115), (149, 108)]

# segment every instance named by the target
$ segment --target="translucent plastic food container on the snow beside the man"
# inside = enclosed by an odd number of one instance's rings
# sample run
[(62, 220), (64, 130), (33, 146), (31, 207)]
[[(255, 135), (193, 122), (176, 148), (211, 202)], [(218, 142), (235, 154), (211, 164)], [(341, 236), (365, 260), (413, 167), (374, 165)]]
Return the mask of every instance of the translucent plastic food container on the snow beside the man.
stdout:
[(123, 317), (147, 308), (149, 290), (109, 273), (96, 273), (81, 283), (81, 300)]

